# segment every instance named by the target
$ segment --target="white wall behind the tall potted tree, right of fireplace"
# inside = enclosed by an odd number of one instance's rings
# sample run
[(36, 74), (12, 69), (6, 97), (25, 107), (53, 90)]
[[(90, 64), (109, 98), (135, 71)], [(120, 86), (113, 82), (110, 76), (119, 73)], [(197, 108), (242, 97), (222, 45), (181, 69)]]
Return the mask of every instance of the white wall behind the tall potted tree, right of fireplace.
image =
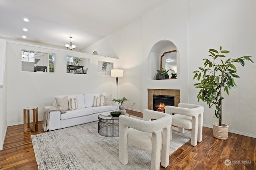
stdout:
[[(256, 62), (256, 1), (189, 1), (189, 101), (198, 103), (198, 89), (193, 84), (192, 73), (203, 66), (208, 49), (230, 51), (228, 58), (253, 56)], [(256, 66), (246, 62), (244, 68), (236, 64), (236, 92), (223, 100), (222, 123), (229, 125), (230, 132), (256, 137)], [(204, 106), (204, 125), (212, 127), (213, 109)]]

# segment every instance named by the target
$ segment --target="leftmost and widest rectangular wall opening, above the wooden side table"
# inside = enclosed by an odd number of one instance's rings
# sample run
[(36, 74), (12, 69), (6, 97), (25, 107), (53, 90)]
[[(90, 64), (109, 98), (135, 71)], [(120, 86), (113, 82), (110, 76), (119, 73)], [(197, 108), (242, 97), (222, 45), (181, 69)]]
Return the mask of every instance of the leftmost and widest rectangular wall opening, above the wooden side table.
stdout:
[(21, 51), (21, 70), (30, 72), (54, 72), (55, 54)]

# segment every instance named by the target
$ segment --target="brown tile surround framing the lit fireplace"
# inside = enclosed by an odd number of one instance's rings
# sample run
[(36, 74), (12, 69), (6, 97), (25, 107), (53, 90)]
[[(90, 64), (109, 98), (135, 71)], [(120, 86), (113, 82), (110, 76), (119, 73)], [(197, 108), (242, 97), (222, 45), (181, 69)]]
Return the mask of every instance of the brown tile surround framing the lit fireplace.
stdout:
[(180, 103), (180, 90), (148, 89), (148, 109), (153, 110), (153, 94), (174, 96), (174, 106)]

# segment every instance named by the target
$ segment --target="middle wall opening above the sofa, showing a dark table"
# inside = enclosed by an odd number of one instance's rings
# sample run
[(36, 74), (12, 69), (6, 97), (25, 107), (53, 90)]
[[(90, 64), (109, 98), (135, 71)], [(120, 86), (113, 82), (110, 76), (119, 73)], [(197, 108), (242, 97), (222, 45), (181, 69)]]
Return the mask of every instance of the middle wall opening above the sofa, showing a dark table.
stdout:
[(88, 74), (89, 59), (67, 56), (66, 61), (67, 73)]

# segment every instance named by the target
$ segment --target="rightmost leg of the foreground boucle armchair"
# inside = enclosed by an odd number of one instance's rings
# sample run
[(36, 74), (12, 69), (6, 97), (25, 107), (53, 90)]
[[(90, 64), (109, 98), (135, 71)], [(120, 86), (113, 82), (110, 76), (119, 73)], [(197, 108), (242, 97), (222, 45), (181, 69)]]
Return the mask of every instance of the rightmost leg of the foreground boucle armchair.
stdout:
[(161, 166), (166, 168), (169, 165), (169, 151), (170, 151), (170, 132), (171, 127), (163, 129), (163, 143), (162, 143), (162, 154), (161, 154)]

